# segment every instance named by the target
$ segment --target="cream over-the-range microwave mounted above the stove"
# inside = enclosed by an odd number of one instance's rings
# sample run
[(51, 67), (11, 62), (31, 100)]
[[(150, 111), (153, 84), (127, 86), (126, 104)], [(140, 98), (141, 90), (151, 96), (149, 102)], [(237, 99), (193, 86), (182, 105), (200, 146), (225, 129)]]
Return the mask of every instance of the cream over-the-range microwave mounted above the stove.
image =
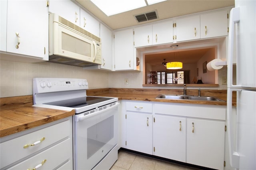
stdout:
[(49, 14), (49, 61), (79, 67), (101, 64), (101, 40), (58, 16)]

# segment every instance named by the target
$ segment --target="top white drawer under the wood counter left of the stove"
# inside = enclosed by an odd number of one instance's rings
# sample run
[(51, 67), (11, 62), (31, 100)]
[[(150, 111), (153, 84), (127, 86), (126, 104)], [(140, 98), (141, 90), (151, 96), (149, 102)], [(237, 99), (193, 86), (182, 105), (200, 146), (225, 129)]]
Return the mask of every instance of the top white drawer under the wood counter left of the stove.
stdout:
[[(30, 154), (33, 154), (42, 148), (45, 148), (63, 138), (67, 138), (71, 136), (70, 129), (72, 128), (71, 119), (58, 123), (56, 125), (52, 125), (50, 127), (43, 128), (41, 130), (37, 130), (35, 132), (31, 132), (29, 134), (8, 140), (6, 142), (2, 142), (0, 144), (1, 148), (1, 156), (0, 156), (0, 164), (1, 168), (12, 164)], [(24, 148), (26, 144), (34, 144), (35, 142), (40, 141), (41, 138), (45, 138), (39, 144), (34, 146), (28, 146)]]

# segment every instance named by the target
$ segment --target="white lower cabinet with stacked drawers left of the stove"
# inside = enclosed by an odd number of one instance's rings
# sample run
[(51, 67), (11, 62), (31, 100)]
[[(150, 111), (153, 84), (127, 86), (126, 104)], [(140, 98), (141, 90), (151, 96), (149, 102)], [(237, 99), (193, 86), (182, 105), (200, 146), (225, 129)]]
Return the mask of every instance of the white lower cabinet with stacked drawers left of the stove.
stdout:
[(72, 117), (4, 136), (0, 147), (1, 170), (72, 169)]

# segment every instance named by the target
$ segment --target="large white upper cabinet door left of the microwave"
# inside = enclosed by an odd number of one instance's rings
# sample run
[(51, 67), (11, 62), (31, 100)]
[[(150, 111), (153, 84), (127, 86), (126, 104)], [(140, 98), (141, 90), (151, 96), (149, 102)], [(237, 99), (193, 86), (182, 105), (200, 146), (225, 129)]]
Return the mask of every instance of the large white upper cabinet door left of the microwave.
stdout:
[(6, 51), (48, 60), (48, 18), (45, 1), (9, 0)]

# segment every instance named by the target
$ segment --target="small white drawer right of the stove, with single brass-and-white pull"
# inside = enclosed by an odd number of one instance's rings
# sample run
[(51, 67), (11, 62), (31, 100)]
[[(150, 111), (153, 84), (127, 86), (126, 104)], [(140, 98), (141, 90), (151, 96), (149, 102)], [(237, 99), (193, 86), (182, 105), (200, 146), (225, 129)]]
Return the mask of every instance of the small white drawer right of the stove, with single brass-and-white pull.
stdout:
[(146, 102), (126, 102), (127, 111), (152, 113), (152, 103)]

